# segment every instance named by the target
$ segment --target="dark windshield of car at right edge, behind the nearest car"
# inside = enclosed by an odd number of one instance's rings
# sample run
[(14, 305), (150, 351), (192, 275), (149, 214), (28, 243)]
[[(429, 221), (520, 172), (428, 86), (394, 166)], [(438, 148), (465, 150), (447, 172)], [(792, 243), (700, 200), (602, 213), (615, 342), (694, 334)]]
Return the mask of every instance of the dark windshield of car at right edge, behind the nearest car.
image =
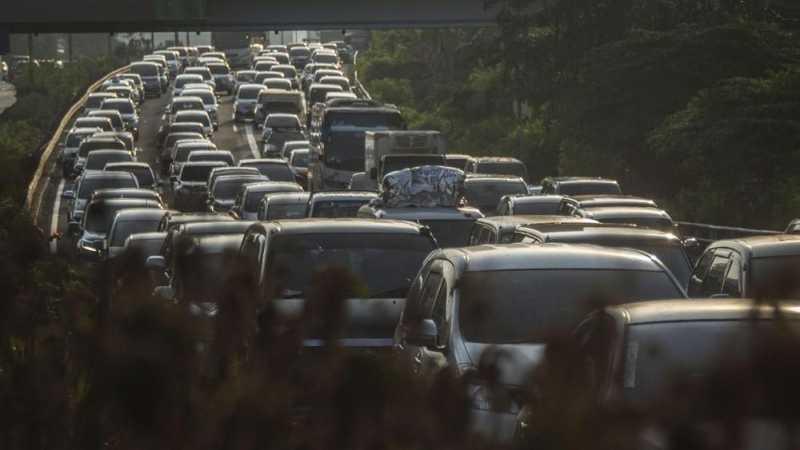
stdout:
[(800, 298), (800, 255), (751, 259), (753, 298)]

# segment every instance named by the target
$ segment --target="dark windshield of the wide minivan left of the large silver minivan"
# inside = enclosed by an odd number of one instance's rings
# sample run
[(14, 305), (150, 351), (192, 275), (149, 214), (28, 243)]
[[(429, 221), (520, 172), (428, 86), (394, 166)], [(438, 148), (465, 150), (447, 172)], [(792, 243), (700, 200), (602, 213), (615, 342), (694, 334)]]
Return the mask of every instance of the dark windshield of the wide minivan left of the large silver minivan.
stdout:
[(267, 270), (278, 297), (303, 295), (315, 272), (342, 268), (357, 280), (357, 297), (402, 298), (434, 245), (416, 234), (289, 234), (270, 248)]

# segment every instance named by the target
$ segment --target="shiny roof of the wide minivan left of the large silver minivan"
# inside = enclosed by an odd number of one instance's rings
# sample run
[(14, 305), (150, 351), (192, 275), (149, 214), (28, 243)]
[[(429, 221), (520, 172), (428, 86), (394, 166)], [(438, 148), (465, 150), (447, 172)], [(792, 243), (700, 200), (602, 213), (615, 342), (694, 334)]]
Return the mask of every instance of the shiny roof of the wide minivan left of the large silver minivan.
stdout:
[(254, 225), (254, 229), (261, 227), (266, 231), (269, 227), (273, 233), (280, 234), (311, 234), (311, 233), (335, 233), (335, 234), (420, 234), (424, 228), (419, 224), (402, 220), (381, 220), (381, 219), (322, 219), (305, 218), (295, 220), (278, 220), (274, 222), (261, 222)]

